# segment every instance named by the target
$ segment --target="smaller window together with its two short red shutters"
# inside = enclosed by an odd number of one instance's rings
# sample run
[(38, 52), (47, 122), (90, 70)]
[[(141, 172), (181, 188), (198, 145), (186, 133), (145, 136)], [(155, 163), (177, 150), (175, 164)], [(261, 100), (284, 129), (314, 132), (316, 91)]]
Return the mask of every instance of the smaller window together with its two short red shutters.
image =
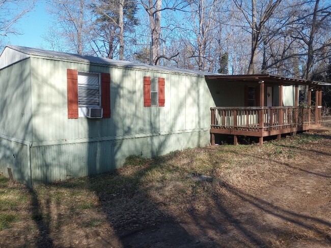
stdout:
[(144, 77), (144, 107), (164, 107), (164, 78)]

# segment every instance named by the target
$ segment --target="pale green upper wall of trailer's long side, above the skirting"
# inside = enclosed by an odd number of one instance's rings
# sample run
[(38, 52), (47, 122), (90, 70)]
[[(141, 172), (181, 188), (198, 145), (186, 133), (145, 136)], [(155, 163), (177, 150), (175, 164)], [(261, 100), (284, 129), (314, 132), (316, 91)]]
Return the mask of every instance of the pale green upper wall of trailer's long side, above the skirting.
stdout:
[[(33, 81), (36, 82), (32, 86), (34, 141), (184, 131), (208, 128), (210, 125), (209, 117), (206, 120), (199, 118), (202, 113), (209, 114), (209, 108), (214, 105), (203, 77), (96, 67), (37, 58), (34, 58), (32, 67), (41, 68), (39, 71), (43, 72), (33, 73)], [(67, 118), (64, 73), (67, 68), (110, 73), (111, 118)], [(144, 76), (165, 79), (164, 107), (144, 107)], [(203, 95), (205, 93), (206, 96)]]

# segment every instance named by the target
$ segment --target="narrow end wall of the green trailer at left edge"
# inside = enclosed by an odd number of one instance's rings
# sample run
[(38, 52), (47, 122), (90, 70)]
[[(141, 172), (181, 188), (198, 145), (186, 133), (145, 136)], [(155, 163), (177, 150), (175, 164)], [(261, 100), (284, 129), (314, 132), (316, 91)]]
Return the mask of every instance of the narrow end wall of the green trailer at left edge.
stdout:
[(30, 183), (32, 140), (30, 60), (0, 70), (0, 172)]

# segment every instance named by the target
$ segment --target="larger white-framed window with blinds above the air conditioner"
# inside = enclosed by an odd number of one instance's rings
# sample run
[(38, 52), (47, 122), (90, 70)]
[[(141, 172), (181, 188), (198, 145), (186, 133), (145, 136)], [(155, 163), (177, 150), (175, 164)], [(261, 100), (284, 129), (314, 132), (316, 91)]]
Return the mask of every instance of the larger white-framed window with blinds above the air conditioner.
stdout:
[(78, 72), (78, 107), (101, 107), (100, 75)]

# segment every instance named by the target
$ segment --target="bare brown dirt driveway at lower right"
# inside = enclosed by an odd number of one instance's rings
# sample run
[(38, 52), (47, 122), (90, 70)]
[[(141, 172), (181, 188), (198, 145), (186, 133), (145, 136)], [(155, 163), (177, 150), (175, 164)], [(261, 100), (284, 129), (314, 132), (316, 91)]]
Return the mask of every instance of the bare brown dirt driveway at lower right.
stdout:
[[(270, 168), (153, 227), (121, 233), (125, 247), (331, 247), (331, 136), (296, 163)], [(274, 167), (272, 168), (272, 165)]]

